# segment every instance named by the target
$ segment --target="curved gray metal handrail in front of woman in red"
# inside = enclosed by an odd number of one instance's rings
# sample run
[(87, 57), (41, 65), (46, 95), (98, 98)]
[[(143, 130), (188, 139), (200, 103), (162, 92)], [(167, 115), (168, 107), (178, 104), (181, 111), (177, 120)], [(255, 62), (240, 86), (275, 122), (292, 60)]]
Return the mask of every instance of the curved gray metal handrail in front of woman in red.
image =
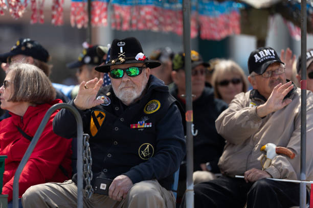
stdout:
[(69, 111), (71, 111), (73, 113), (73, 115), (75, 116), (76, 119), (76, 123), (77, 123), (77, 207), (82, 208), (83, 207), (83, 174), (82, 174), (82, 143), (83, 143), (83, 139), (82, 139), (82, 133), (83, 133), (83, 128), (82, 128), (82, 119), (80, 117), (80, 114), (78, 113), (78, 111), (73, 107), (70, 106), (69, 104), (66, 103), (58, 103), (54, 106), (52, 106), (46, 113), (46, 115), (44, 115), (35, 136), (33, 137), (31, 143), (29, 144), (23, 159), (20, 161), (16, 172), (14, 174), (14, 180), (13, 180), (13, 208), (18, 208), (18, 180), (19, 180), (19, 176), (22, 172), (22, 170), (24, 169), (31, 153), (33, 152), (39, 137), (41, 135), (41, 133), (43, 132), (44, 127), (46, 127), (46, 124), (48, 122), (48, 120), (50, 119), (51, 114), (56, 111), (57, 109), (60, 108), (65, 108)]

